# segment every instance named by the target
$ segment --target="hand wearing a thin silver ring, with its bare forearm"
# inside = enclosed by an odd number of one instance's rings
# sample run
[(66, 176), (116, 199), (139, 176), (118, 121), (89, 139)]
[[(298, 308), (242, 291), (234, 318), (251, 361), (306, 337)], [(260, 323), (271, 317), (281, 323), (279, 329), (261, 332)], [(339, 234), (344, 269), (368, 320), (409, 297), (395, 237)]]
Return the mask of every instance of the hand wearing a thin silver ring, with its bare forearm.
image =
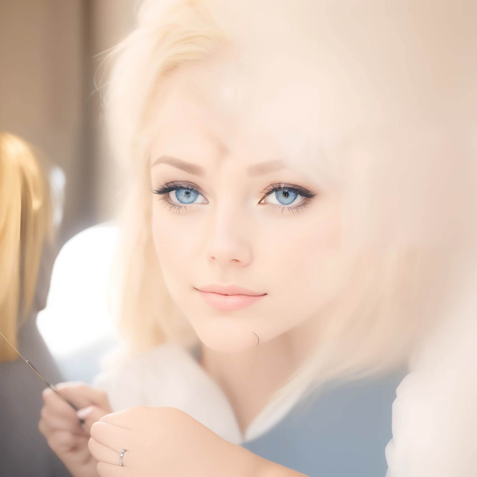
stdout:
[(134, 407), (102, 417), (91, 427), (89, 449), (100, 477), (302, 476), (230, 444), (170, 407)]

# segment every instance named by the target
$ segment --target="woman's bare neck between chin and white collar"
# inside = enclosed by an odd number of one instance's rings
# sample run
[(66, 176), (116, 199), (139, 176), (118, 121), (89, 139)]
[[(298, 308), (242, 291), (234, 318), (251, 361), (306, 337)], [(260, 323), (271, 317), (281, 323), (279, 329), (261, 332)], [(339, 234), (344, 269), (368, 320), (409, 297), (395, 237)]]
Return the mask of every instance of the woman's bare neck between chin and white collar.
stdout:
[(222, 388), (243, 432), (290, 376), (312, 346), (311, 323), (239, 353), (202, 346), (201, 365)]

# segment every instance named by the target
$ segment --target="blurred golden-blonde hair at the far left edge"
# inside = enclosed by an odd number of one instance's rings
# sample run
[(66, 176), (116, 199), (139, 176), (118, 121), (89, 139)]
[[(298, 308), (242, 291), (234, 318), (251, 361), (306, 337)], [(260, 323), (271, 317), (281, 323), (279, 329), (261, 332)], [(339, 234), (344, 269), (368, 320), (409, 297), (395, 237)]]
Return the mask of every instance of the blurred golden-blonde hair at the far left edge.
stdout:
[[(17, 347), (17, 331), (34, 298), (41, 252), (52, 239), (48, 184), (35, 153), (0, 132), (0, 327)], [(18, 354), (0, 340), (0, 361)]]

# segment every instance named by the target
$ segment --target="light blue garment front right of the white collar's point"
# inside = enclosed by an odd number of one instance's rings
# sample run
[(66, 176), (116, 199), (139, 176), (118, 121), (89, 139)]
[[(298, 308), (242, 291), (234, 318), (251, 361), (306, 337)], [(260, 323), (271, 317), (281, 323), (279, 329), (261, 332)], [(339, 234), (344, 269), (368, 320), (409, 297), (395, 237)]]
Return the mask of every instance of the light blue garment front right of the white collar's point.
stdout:
[(392, 404), (404, 375), (328, 385), (244, 447), (311, 477), (384, 477)]

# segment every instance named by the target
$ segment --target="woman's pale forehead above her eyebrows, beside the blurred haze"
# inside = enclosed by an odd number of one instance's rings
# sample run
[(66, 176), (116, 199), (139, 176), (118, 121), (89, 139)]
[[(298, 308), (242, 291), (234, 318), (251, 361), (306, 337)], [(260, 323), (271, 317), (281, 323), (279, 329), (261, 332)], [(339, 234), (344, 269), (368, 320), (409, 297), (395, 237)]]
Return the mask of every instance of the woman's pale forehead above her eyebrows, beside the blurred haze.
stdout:
[(181, 67), (167, 78), (153, 112), (151, 161), (163, 155), (201, 163), (240, 157), (249, 166), (278, 159), (273, 137), (228, 101), (229, 86), (214, 64)]

